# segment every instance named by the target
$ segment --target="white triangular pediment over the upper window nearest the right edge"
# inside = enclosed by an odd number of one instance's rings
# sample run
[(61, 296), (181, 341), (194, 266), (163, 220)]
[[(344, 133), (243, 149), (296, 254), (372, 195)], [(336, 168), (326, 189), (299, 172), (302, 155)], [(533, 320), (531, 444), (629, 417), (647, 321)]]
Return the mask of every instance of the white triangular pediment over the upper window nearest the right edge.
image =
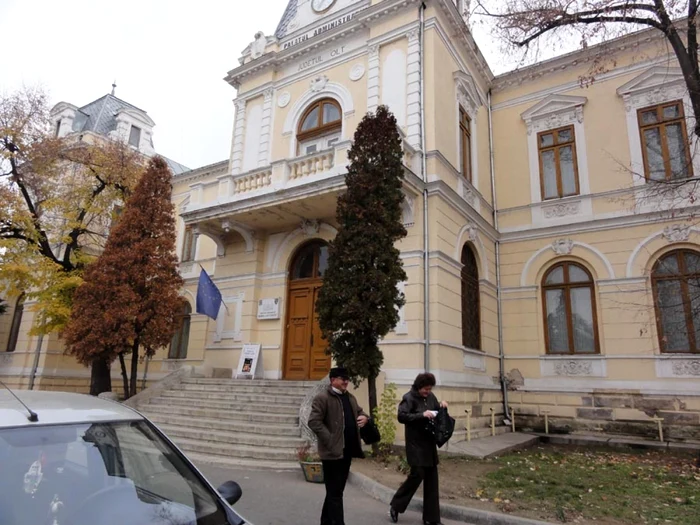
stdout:
[(660, 104), (683, 97), (687, 91), (685, 77), (679, 67), (656, 66), (617, 88), (629, 112), (644, 106)]

